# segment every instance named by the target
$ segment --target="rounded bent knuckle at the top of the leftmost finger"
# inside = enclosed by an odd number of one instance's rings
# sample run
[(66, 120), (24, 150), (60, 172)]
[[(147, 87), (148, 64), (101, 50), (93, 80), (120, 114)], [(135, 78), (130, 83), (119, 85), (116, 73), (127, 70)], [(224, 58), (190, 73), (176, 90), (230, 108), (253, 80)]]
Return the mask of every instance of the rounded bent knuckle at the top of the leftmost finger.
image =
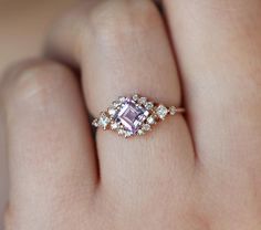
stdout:
[(72, 75), (64, 66), (43, 60), (30, 60), (10, 67), (1, 82), (6, 98), (42, 97)]

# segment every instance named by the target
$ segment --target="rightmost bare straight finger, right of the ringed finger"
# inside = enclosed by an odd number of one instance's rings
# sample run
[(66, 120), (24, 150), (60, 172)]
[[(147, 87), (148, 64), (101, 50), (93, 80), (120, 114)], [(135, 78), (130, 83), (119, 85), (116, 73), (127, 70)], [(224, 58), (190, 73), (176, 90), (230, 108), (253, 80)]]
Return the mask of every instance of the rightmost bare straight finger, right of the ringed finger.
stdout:
[(199, 157), (261, 170), (261, 2), (164, 2)]

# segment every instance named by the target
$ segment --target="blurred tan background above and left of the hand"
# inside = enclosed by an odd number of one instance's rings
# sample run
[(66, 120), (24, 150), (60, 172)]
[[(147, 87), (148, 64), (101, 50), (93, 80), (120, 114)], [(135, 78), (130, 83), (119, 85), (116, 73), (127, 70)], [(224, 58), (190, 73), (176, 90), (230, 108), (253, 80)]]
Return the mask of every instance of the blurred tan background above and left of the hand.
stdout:
[[(0, 77), (13, 62), (41, 55), (52, 22), (76, 0), (0, 0)], [(0, 123), (0, 230), (8, 201), (8, 163)]]

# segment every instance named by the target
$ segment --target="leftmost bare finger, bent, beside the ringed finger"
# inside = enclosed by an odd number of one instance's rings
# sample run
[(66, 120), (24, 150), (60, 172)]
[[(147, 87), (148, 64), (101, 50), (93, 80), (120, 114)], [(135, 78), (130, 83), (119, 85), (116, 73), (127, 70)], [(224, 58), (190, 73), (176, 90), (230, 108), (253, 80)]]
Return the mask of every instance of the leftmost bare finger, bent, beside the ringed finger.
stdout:
[[(28, 61), (7, 73), (0, 92), (12, 219), (21, 229), (29, 224), (50, 229), (56, 212), (72, 218), (79, 203), (87, 209), (97, 172), (84, 103), (73, 73), (50, 61)], [(60, 224), (59, 218), (51, 222)]]

